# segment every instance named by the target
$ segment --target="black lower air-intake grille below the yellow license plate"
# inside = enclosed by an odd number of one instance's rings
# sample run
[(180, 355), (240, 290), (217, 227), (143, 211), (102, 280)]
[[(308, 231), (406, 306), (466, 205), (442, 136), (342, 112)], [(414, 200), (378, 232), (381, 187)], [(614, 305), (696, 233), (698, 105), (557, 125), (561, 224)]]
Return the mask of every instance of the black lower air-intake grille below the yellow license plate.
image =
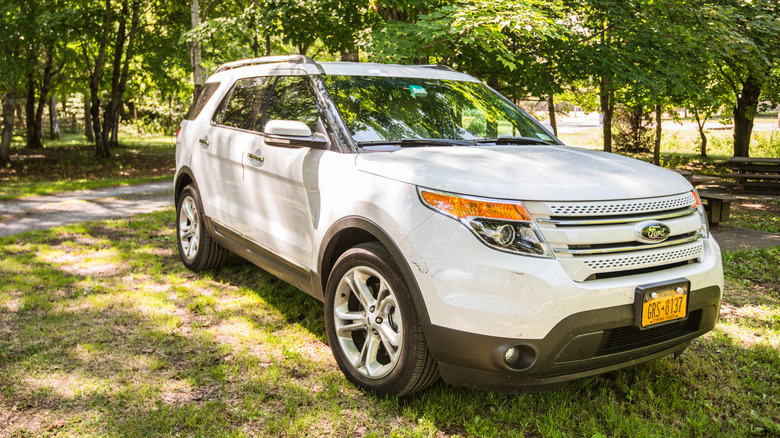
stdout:
[(692, 312), (687, 320), (660, 327), (640, 330), (634, 326), (626, 326), (605, 330), (596, 356), (621, 353), (694, 333), (701, 325), (701, 317), (702, 312), (698, 310)]

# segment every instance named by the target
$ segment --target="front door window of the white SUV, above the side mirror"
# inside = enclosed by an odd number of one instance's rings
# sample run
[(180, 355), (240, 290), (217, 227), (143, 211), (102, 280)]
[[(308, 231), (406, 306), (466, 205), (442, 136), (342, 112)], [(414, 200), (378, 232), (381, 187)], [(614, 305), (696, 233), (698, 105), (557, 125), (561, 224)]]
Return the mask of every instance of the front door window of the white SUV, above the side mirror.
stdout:
[(298, 120), (314, 132), (320, 118), (314, 102), (306, 77), (280, 76), (268, 101), (265, 120)]

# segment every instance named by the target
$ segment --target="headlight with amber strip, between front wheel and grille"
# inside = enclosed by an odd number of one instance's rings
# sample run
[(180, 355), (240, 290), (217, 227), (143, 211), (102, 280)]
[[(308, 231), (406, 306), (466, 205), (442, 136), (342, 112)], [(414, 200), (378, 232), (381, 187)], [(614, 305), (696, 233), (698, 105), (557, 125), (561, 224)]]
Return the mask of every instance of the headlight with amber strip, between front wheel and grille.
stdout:
[(417, 191), (428, 208), (461, 222), (491, 248), (552, 257), (542, 233), (520, 201), (465, 197), (419, 187)]

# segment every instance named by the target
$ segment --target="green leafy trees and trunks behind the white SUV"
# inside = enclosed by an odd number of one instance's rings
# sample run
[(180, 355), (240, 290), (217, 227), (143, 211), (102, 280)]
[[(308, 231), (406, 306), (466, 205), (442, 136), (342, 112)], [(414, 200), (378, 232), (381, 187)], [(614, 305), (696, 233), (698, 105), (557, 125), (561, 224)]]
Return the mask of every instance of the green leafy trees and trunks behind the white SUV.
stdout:
[(0, 163), (15, 130), (37, 150), (46, 126), (110, 158), (123, 134), (175, 132), (221, 63), (294, 53), (448, 65), (546, 102), (553, 127), (556, 108), (598, 111), (604, 150), (656, 163), (662, 114), (698, 123), (703, 156), (716, 117), (747, 157), (756, 115), (780, 104), (778, 35), (775, 0), (7, 0)]

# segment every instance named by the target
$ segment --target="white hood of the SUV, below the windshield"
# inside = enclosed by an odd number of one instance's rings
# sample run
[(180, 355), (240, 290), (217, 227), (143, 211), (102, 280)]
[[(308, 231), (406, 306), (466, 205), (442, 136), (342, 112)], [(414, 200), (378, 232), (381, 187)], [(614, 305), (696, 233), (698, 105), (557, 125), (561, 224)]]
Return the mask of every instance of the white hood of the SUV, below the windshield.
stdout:
[(682, 176), (649, 163), (566, 146), (417, 147), (358, 154), (359, 170), (430, 189), (528, 201), (683, 193)]

